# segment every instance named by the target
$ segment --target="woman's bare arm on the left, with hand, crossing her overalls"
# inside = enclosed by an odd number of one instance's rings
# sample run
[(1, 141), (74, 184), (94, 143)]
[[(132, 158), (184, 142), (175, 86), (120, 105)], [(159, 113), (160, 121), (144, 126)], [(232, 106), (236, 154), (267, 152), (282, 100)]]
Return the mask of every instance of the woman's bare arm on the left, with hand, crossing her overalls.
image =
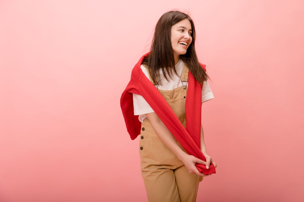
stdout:
[(157, 116), (155, 112), (148, 113), (146, 114), (146, 116), (151, 122), (151, 125), (154, 128), (154, 131), (156, 132), (157, 136), (184, 163), (189, 173), (195, 173), (199, 176), (207, 176), (200, 173), (195, 167), (196, 163), (206, 164), (205, 161), (202, 161), (199, 158), (185, 153), (181, 149), (181, 147), (179, 147), (171, 132), (168, 130), (168, 128), (164, 125), (164, 123), (161, 121), (161, 119)]

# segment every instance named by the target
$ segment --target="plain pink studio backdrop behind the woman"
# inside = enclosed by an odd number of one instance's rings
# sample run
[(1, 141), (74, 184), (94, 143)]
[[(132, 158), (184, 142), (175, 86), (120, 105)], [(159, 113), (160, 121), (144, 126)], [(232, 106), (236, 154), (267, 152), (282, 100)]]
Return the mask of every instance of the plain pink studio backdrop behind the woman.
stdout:
[(147, 201), (119, 99), (168, 10), (190, 12), (215, 99), (197, 201), (303, 201), (304, 3), (0, 1), (0, 201)]

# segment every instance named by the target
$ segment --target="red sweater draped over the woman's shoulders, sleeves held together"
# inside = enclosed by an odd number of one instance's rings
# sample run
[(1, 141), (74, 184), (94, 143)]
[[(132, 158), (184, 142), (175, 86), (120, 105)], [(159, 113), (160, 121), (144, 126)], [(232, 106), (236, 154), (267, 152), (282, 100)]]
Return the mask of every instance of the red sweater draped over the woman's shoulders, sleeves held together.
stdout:
[[(149, 53), (143, 55), (134, 66), (131, 73), (131, 80), (123, 91), (120, 99), (120, 106), (123, 111), (127, 131), (129, 132), (131, 139), (134, 140), (140, 134), (141, 128), (141, 122), (138, 120), (138, 115), (134, 115), (132, 93), (135, 93), (142, 95), (150, 104), (161, 121), (181, 146), (184, 147), (188, 154), (206, 161), (205, 156), (200, 150), (202, 86), (195, 81), (195, 78), (189, 71), (188, 90), (185, 104), (187, 120), (185, 128), (157, 88), (155, 88), (141, 70), (140, 65), (142, 64), (144, 57), (148, 54)], [(202, 68), (206, 71), (205, 67), (205, 65), (202, 65)], [(206, 169), (206, 166), (202, 164), (196, 164), (196, 167), (199, 172), (203, 174), (216, 173), (215, 167), (212, 163), (210, 164), (209, 169)]]

